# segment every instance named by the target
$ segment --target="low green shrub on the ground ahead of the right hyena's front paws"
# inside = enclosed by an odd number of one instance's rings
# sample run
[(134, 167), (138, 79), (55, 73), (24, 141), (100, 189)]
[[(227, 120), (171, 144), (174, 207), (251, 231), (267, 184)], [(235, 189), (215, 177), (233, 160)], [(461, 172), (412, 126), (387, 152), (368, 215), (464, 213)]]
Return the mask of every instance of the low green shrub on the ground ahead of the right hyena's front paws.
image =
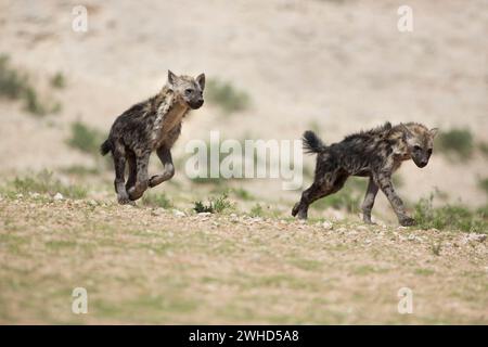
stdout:
[(473, 213), (462, 205), (433, 207), (434, 195), (415, 204), (413, 218), (421, 229), (461, 230), (465, 232), (488, 232), (486, 216)]

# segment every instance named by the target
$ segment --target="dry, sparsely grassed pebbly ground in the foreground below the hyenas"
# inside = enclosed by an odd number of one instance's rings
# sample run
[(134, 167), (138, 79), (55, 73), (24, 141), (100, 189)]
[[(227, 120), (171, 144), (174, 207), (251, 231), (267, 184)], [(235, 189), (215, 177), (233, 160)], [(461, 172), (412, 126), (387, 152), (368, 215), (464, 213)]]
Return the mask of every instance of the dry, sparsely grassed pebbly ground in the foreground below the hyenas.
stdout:
[(465, 236), (3, 197), (0, 322), (487, 323), (487, 245)]

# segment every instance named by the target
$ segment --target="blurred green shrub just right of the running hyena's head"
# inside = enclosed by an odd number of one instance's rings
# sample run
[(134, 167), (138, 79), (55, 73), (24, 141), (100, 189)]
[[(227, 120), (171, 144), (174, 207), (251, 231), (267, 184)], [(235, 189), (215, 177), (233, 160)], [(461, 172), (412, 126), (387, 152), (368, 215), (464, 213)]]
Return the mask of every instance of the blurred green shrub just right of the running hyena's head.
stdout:
[(237, 90), (230, 82), (217, 79), (210, 79), (207, 82), (206, 93), (208, 101), (229, 114), (246, 110), (251, 102), (246, 92)]

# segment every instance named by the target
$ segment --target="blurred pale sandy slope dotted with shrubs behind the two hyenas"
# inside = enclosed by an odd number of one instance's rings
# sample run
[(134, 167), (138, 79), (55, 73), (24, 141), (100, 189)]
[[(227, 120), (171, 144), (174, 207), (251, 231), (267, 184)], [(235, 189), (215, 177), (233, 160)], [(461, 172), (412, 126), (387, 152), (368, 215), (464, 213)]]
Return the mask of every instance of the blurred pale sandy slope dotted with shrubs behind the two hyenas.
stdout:
[[(210, 130), (266, 140), (307, 129), (332, 143), (389, 120), (440, 128), (431, 164), (407, 163), (396, 176), (400, 196), (486, 206), (487, 1), (82, 1), (86, 33), (72, 27), (78, 4), (0, 0), (3, 181), (48, 170), (115, 200), (98, 146), (115, 117), (155, 94), (171, 69), (204, 72), (207, 102), (185, 120), (177, 175), (155, 190), (155, 204), (227, 190), (245, 209), (290, 214), (300, 192), (282, 191), (279, 180), (189, 180), (184, 144), (208, 141)], [(413, 10), (411, 33), (397, 28), (402, 4)], [(304, 188), (314, 158), (305, 160)], [(154, 157), (150, 174), (158, 169)], [(357, 213), (357, 187), (313, 214)], [(378, 205), (391, 218), (383, 196)]]

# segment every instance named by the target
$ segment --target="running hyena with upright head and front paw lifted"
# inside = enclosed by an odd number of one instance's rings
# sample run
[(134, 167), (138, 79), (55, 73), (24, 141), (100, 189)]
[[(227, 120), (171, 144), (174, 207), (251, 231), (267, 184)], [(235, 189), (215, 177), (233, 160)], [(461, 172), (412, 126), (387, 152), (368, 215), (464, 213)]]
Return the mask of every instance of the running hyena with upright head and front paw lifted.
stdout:
[[(181, 121), (190, 110), (203, 103), (205, 75), (196, 78), (168, 72), (168, 82), (160, 92), (140, 102), (115, 119), (108, 139), (101, 145), (102, 155), (112, 152), (115, 166), (115, 192), (120, 204), (128, 204), (175, 175), (171, 146), (181, 132)], [(163, 163), (160, 175), (147, 177), (150, 155), (156, 151)], [(125, 182), (126, 162), (129, 178)]]

